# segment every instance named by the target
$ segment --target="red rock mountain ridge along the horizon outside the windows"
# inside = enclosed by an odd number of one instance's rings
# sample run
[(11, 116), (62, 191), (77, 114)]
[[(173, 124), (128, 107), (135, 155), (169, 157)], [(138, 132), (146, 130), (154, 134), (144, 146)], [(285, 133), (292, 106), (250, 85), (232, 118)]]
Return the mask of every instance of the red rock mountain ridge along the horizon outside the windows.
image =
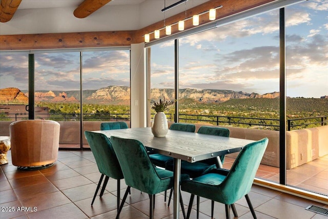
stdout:
[[(98, 90), (84, 90), (82, 96), (84, 103), (93, 104), (111, 104), (111, 105), (129, 105), (130, 87), (127, 86), (108, 86)], [(174, 89), (153, 88), (151, 89), (152, 99), (158, 100), (165, 98), (167, 101), (174, 100)], [(246, 93), (233, 90), (215, 90), (215, 89), (179, 89), (181, 99), (192, 99), (198, 103), (223, 103), (229, 99), (244, 98), (279, 98), (279, 92), (258, 94), (255, 92)], [(327, 97), (327, 96), (323, 96)], [(322, 97), (321, 97), (322, 98)], [(34, 99), (36, 102), (67, 102), (78, 103), (80, 99), (79, 91), (35, 91)], [(18, 88), (0, 89), (1, 104), (27, 104), (28, 92), (20, 91)]]

